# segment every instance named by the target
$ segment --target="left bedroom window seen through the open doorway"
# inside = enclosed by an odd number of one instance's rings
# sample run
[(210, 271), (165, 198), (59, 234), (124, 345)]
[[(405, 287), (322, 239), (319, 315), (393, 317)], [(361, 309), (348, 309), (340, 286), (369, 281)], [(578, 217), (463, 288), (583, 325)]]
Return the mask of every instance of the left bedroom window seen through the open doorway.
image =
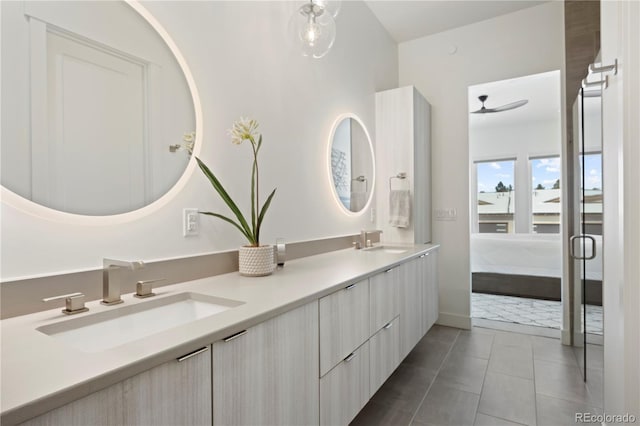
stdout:
[(478, 232), (515, 232), (515, 163), (515, 160), (476, 163)]

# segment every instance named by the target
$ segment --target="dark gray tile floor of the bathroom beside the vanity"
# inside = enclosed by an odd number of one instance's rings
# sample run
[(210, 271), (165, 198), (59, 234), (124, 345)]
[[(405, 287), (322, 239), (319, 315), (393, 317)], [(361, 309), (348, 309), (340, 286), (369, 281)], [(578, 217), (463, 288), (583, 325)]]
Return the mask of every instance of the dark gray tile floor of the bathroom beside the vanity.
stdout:
[(601, 414), (602, 347), (589, 346), (588, 385), (557, 339), (434, 326), (352, 425), (575, 426)]

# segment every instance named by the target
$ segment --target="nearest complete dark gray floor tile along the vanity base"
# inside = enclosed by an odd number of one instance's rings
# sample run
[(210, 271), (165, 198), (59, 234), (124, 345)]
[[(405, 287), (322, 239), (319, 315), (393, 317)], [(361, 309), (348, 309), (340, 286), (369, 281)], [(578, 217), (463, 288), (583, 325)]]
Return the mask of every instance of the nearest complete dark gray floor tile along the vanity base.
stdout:
[(400, 364), (371, 401), (413, 415), (435, 376), (436, 370)]

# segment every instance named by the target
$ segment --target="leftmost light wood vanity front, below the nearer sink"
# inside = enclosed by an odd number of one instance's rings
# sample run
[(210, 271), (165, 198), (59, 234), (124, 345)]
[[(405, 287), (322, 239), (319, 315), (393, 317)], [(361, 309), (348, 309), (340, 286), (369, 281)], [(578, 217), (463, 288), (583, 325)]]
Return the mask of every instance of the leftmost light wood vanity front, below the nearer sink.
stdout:
[(209, 348), (183, 361), (154, 367), (22, 425), (211, 425)]

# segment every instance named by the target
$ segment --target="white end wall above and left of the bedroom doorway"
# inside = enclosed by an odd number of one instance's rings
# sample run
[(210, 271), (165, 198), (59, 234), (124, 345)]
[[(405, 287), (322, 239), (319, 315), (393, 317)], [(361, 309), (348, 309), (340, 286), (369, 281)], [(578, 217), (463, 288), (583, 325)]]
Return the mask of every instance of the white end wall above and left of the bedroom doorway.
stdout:
[(470, 326), (467, 88), (563, 69), (563, 33), (563, 3), (549, 2), (399, 45), (400, 85), (416, 86), (433, 106), (433, 208), (458, 212), (433, 223), (442, 324)]

